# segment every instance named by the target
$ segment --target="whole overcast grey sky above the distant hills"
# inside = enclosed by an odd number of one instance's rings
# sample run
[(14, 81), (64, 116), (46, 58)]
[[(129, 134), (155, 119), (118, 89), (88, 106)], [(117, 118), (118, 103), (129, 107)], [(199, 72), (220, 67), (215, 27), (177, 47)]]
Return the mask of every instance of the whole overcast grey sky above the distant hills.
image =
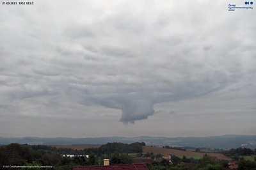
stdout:
[(0, 136), (256, 135), (256, 10), (228, 3), (1, 4)]

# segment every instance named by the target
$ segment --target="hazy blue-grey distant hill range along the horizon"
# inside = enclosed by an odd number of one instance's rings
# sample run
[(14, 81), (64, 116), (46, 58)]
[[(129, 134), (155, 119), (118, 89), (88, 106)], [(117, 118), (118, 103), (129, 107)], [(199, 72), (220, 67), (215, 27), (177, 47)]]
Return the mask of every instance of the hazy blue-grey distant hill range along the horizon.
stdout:
[(1, 144), (20, 143), (20, 144), (106, 144), (106, 143), (136, 143), (145, 142), (147, 145), (159, 146), (180, 146), (193, 148), (256, 148), (256, 135), (221, 135), (211, 137), (0, 137)]

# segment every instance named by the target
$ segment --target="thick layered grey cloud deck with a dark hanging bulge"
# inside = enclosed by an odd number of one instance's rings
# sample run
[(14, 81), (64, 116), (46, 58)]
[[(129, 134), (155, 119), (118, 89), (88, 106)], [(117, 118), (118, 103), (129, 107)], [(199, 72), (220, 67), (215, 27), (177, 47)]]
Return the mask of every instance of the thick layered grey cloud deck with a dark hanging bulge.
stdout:
[[(74, 3), (61, 7), (65, 13), (50, 8), (56, 5), (50, 1), (14, 13), (1, 6), (0, 101), (17, 102), (16, 114), (26, 116), (38, 107), (41, 117), (100, 115), (81, 108), (111, 108), (120, 111), (120, 121), (133, 123), (153, 119), (158, 104), (236, 93), (240, 82), (244, 91), (237, 98), (249, 93), (255, 24), (246, 22), (244, 31), (244, 18), (252, 13), (229, 15), (222, 1), (212, 12), (200, 1), (200, 8), (190, 1), (144, 3)], [(240, 34), (244, 38), (234, 36)]]

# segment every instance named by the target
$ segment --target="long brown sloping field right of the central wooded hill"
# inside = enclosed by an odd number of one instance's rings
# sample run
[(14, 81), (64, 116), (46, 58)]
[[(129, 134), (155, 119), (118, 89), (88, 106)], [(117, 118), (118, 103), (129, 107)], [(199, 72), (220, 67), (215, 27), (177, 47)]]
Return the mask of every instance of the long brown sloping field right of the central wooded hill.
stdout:
[(195, 152), (195, 151), (183, 151), (183, 150), (175, 150), (175, 149), (167, 149), (167, 148), (157, 148), (152, 146), (143, 146), (143, 153), (162, 154), (166, 157), (172, 154), (180, 158), (185, 156), (187, 158), (197, 158), (197, 159), (202, 158), (204, 157), (205, 154), (207, 154), (219, 160), (231, 160), (231, 158), (226, 157), (221, 153), (202, 153), (202, 152)]

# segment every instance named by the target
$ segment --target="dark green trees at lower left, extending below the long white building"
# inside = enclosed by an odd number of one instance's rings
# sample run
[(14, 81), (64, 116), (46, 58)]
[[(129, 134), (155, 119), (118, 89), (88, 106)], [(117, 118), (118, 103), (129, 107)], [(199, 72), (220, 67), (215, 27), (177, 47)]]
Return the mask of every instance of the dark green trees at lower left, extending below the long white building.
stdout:
[[(56, 148), (9, 144), (0, 147), (0, 169), (5, 166), (29, 166), (23, 169), (39, 169), (36, 166), (53, 166), (54, 169), (72, 169), (74, 166), (95, 165), (95, 156), (62, 157)], [(44, 168), (45, 170), (51, 168)]]

